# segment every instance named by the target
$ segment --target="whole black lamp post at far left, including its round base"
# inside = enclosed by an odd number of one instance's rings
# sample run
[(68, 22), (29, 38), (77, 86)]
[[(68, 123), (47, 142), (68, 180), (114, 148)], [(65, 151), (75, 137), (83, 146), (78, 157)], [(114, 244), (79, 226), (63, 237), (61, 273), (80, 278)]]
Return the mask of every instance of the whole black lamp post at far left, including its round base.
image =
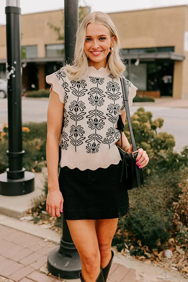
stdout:
[(0, 174), (0, 194), (19, 196), (34, 191), (34, 173), (22, 167), (22, 111), (19, 0), (6, 2), (8, 79), (8, 168)]

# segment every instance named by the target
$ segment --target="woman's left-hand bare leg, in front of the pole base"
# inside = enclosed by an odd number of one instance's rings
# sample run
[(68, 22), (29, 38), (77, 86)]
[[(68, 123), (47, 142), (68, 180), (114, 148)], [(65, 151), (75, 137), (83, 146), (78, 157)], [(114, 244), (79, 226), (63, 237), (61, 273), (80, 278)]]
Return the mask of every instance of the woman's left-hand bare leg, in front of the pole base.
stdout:
[(80, 255), (82, 278), (85, 282), (96, 282), (101, 269), (94, 220), (67, 220), (67, 224)]

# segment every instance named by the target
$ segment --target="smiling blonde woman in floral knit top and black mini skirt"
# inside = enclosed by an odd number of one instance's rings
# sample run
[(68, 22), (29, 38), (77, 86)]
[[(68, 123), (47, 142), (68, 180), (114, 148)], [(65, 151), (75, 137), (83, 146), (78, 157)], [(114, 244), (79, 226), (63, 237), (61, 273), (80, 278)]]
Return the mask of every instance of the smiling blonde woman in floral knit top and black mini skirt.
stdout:
[[(112, 264), (112, 238), (118, 218), (129, 209), (128, 191), (120, 182), (121, 147), (117, 121), (125, 123), (119, 76), (125, 65), (119, 57), (119, 38), (110, 17), (88, 14), (79, 26), (74, 62), (46, 77), (51, 85), (48, 106), (46, 210), (64, 218), (81, 258), (79, 276), (85, 282), (104, 282)], [(129, 106), (137, 88), (127, 81)], [(61, 133), (61, 124), (63, 129)], [(60, 134), (61, 133), (61, 134)], [(125, 134), (122, 149), (131, 153)], [(58, 179), (58, 148), (61, 148)], [(148, 164), (138, 149), (137, 165)]]

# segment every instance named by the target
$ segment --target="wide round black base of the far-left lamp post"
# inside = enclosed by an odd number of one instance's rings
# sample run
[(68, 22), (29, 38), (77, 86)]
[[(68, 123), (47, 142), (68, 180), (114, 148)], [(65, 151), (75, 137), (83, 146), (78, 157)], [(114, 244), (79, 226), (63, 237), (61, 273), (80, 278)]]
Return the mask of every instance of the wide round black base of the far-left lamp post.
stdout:
[(24, 172), (21, 179), (8, 179), (7, 172), (0, 174), (0, 195), (21, 196), (34, 191), (34, 173)]

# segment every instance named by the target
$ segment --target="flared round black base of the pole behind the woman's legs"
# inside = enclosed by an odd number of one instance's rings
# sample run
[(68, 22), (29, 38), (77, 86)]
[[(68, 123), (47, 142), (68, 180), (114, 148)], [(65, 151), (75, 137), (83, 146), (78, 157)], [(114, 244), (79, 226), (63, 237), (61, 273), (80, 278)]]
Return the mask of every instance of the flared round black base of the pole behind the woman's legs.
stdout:
[[(66, 242), (64, 243), (66, 244)], [(50, 273), (60, 278), (79, 278), (81, 260), (76, 248), (68, 250), (66, 247), (63, 248), (62, 245), (55, 248), (48, 255), (47, 268)]]

